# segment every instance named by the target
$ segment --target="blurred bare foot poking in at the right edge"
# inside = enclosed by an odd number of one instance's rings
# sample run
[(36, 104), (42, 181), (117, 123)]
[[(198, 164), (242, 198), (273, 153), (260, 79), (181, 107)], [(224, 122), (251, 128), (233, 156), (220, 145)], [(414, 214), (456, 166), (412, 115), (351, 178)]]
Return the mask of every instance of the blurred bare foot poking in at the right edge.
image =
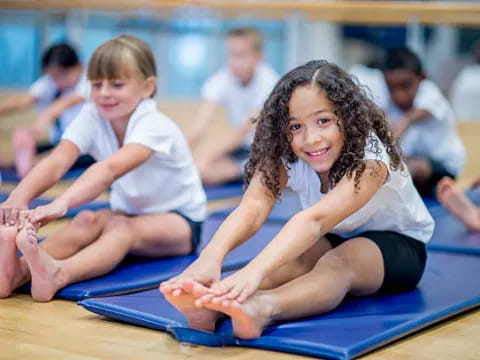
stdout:
[(480, 210), (450, 178), (443, 178), (437, 187), (440, 203), (463, 222), (469, 230), (480, 231)]

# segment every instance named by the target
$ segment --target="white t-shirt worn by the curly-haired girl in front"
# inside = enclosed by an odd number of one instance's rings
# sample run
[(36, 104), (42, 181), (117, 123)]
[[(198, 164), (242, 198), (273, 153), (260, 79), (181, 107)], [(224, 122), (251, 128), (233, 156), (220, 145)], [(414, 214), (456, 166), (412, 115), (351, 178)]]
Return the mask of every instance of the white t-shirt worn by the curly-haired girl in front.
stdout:
[[(378, 142), (379, 154), (374, 153), (374, 148), (371, 149), (372, 141)], [(364, 231), (395, 231), (428, 242), (433, 233), (434, 222), (408, 171), (390, 169), (390, 157), (375, 135), (367, 138), (365, 160), (384, 162), (388, 168), (388, 178), (362, 208), (335, 225), (329, 232), (353, 237)], [(304, 209), (313, 206), (325, 196), (320, 192), (320, 177), (310, 165), (299, 159), (289, 166), (287, 186), (299, 195)]]

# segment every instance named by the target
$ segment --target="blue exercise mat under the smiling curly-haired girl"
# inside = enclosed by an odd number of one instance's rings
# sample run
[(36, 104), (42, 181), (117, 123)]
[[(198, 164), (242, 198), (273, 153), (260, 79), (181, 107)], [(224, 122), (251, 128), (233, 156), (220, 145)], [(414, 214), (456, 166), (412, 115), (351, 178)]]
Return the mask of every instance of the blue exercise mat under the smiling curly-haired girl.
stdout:
[(350, 298), (330, 313), (270, 326), (255, 340), (235, 339), (229, 320), (218, 324), (213, 334), (188, 328), (158, 290), (88, 299), (79, 305), (123, 322), (168, 331), (181, 342), (351, 359), (480, 305), (480, 282), (472, 276), (479, 272), (478, 257), (431, 252), (417, 289)]

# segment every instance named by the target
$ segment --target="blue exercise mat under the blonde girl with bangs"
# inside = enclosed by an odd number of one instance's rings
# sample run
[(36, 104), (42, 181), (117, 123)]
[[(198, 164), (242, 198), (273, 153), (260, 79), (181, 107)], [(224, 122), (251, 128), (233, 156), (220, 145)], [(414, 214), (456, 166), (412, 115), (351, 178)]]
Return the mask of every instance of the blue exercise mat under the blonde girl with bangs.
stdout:
[[(205, 247), (223, 219), (207, 219), (202, 230), (200, 249)], [(232, 251), (224, 262), (224, 270), (245, 265), (272, 239), (279, 227), (266, 224), (250, 241)], [(111, 273), (92, 280), (71, 284), (60, 290), (55, 297), (80, 300), (89, 297), (124, 294), (156, 287), (160, 282), (181, 273), (197, 255), (177, 256), (163, 259), (127, 258)], [(29, 292), (28, 287), (19, 289)]]

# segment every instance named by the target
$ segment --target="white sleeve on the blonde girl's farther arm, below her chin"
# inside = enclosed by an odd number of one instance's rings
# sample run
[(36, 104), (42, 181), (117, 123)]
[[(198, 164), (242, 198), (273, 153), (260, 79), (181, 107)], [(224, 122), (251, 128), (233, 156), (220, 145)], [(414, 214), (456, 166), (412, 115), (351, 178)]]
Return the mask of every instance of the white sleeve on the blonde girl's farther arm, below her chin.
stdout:
[(62, 140), (70, 140), (77, 145), (81, 154), (91, 154), (98, 131), (96, 109), (87, 103), (63, 133)]

